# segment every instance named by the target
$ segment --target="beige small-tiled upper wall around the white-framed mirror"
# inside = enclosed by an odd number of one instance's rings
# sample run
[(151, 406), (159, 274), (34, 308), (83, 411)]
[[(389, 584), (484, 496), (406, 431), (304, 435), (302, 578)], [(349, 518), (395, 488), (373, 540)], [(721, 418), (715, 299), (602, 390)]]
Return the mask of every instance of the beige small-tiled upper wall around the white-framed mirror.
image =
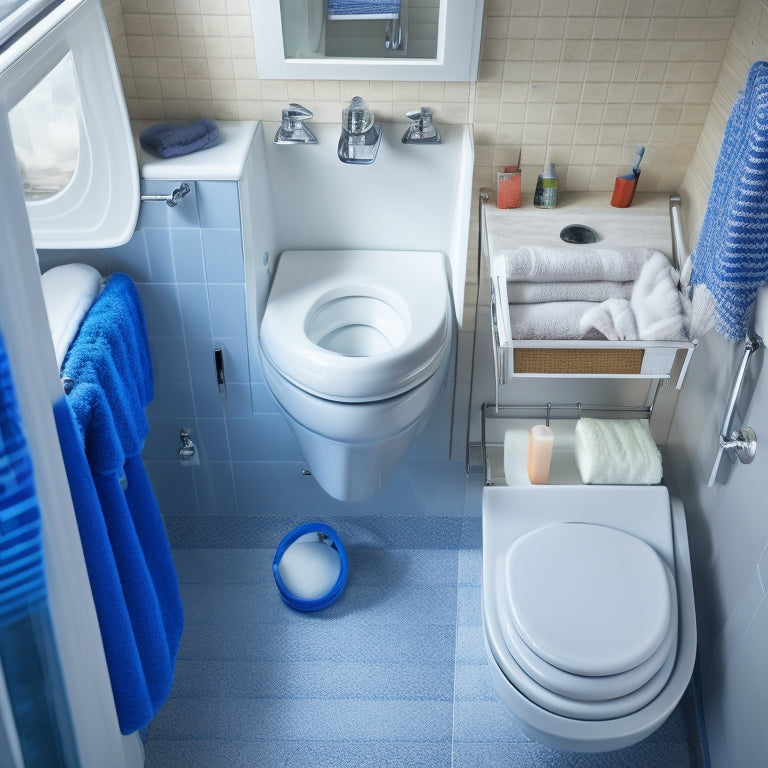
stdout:
[(420, 103), (471, 122), (476, 183), (517, 159), (532, 189), (549, 153), (564, 189), (609, 190), (634, 147), (641, 188), (677, 188), (739, 0), (485, 0), (476, 83), (260, 80), (248, 0), (103, 0), (133, 118), (338, 122), (352, 95), (384, 120)]

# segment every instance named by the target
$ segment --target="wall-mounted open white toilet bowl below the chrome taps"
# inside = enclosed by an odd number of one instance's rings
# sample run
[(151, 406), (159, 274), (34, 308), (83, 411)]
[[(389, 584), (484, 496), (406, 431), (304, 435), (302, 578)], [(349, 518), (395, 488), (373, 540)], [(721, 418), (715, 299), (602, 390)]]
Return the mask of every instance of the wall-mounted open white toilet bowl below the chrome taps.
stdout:
[(454, 315), (446, 257), (286, 251), (259, 331), (264, 379), (322, 488), (377, 493), (443, 391)]

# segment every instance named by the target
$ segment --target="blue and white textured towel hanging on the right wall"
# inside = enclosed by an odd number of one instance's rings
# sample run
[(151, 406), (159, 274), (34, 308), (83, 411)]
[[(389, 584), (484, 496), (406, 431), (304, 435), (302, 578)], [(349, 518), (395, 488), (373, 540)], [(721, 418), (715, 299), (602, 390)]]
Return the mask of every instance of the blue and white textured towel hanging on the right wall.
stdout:
[(768, 63), (755, 62), (725, 127), (691, 283), (714, 299), (727, 339), (749, 330), (757, 289), (768, 284)]

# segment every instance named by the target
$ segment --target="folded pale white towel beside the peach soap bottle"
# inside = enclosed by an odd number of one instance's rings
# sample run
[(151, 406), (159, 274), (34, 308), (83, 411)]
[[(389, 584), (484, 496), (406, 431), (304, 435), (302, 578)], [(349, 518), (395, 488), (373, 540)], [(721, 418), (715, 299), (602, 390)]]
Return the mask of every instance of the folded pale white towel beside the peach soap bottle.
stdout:
[(645, 419), (579, 419), (574, 454), (583, 483), (656, 485), (661, 482), (661, 453)]

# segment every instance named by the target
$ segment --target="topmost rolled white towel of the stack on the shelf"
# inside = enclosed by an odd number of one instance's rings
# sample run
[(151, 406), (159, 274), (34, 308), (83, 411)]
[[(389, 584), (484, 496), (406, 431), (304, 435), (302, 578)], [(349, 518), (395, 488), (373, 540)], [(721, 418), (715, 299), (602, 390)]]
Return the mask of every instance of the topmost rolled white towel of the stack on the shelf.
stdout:
[[(636, 280), (653, 248), (548, 248), (530, 246), (501, 250), (507, 280), (560, 282)], [(494, 263), (494, 272), (501, 269)]]

